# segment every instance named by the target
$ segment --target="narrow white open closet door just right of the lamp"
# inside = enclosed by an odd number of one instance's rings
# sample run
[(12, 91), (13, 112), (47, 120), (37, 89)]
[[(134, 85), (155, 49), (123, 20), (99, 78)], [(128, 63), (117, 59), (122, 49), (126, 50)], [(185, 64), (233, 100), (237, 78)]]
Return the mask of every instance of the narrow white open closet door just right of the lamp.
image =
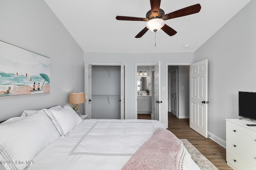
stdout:
[(88, 115), (88, 119), (92, 117), (92, 66), (85, 64), (85, 115)]

